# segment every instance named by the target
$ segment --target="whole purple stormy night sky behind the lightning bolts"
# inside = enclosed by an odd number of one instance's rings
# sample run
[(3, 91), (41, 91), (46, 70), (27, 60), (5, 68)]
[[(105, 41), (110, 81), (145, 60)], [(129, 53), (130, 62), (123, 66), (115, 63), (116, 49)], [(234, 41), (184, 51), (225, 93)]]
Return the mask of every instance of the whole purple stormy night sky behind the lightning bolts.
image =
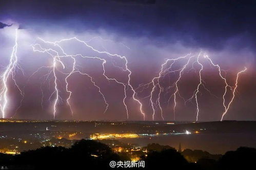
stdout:
[[(50, 66), (52, 58), (45, 53), (33, 52), (31, 45), (38, 43), (45, 48), (53, 48), (38, 37), (47, 41), (77, 37), (84, 41), (90, 40), (88, 44), (99, 51), (126, 56), (131, 71), (130, 83), (134, 89), (156, 77), (167, 58), (178, 58), (188, 53), (207, 53), (214, 63), (226, 70), (225, 76), (231, 86), (235, 85), (236, 74), (246, 67), (246, 72), (239, 77), (235, 98), (224, 120), (256, 120), (255, 18), (255, 1), (0, 1), (1, 74), (9, 63), (15, 43), (15, 29), (18, 29), (18, 63), (24, 69), (24, 75), (18, 70), (15, 74), (17, 84), (24, 91), (21, 107), (21, 95), (12, 79), (8, 79), (6, 117), (53, 119), (55, 94), (50, 100), (48, 98), (54, 91), (54, 79), (50, 77), (49, 82), (45, 81), (43, 75), (48, 73), (47, 69), (30, 77), (38, 68)], [(106, 58), (106, 74), (122, 82), (128, 80), (127, 72), (114, 67), (123, 67), (124, 60), (95, 53), (74, 40), (63, 42), (62, 46), (69, 54)], [(70, 60), (64, 60), (67, 69), (71, 69)], [(57, 103), (55, 119), (126, 120), (123, 87), (104, 78), (102, 62), (83, 58), (77, 59), (77, 62), (78, 67), (90, 74), (101, 88), (109, 108), (104, 114), (104, 100), (90, 78), (73, 74), (69, 78), (72, 116), (65, 102), (67, 93), (63, 75), (57, 73), (63, 100)], [(181, 68), (182, 64), (184, 61), (178, 62), (175, 67)], [(191, 97), (199, 82), (199, 70), (195, 66), (194, 72), (186, 71), (180, 81), (180, 95), (185, 99)], [(171, 84), (177, 76), (170, 74), (161, 80), (164, 92), (160, 100), (165, 120), (173, 120), (173, 98), (169, 104), (167, 100), (173, 91)], [(219, 121), (224, 111), (222, 95), (225, 84), (211, 66), (202, 72), (202, 77), (205, 86), (215, 97), (201, 87), (199, 121)], [(143, 104), (146, 120), (152, 120), (152, 109), (149, 99), (143, 98), (150, 94), (151, 89), (136, 94)], [(227, 101), (230, 96), (229, 91)], [(186, 105), (180, 97), (177, 101), (175, 120), (194, 121), (194, 99)], [(130, 89), (127, 89), (126, 103), (129, 120), (143, 120), (139, 105), (132, 100)], [(159, 109), (156, 109), (155, 120), (161, 120)]]

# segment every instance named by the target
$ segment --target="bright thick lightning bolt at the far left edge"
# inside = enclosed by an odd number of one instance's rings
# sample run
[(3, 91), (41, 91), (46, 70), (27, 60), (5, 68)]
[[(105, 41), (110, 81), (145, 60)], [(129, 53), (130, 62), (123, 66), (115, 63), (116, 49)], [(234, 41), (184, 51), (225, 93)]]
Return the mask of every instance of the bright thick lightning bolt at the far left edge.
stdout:
[[(17, 58), (17, 55), (16, 55), (17, 47), (18, 47), (17, 38), (18, 38), (18, 30), (15, 29), (15, 44), (12, 48), (12, 53), (11, 53), (11, 56), (10, 56), (9, 64), (5, 68), (4, 73), (0, 76), (1, 81), (2, 81), (2, 86), (3, 86), (0, 90), (0, 109), (1, 109), (1, 113), (2, 113), (2, 116), (1, 116), (2, 118), (6, 117), (6, 109), (7, 109), (8, 102), (9, 102), (9, 100), (8, 100), (8, 91), (9, 91), (9, 89), (8, 89), (8, 79), (10, 77), (12, 78), (12, 81), (14, 82), (15, 86), (17, 87), (19, 93), (22, 96), (19, 107), (21, 107), (21, 103), (22, 103), (22, 100), (24, 98), (24, 93), (23, 93), (22, 89), (18, 86), (18, 84), (15, 80), (15, 74), (16, 74), (17, 70), (20, 70), (24, 75), (24, 71), (21, 68), (21, 66), (19, 66), (18, 58)], [(18, 110), (18, 108), (17, 108), (17, 110)], [(15, 112), (15, 114), (16, 114), (16, 112)]]

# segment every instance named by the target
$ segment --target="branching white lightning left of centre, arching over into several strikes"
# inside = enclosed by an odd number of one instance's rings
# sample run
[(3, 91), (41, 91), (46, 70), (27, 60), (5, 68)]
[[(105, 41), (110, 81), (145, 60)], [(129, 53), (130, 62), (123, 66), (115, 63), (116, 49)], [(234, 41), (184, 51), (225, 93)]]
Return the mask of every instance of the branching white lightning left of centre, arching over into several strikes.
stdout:
[[(45, 40), (43, 40), (42, 38), (39, 38), (39, 39), (41, 39), (41, 40), (42, 40), (43, 42), (45, 42), (46, 44), (52, 44), (52, 45), (54, 45), (54, 46), (57, 46), (58, 48), (61, 49), (62, 53), (64, 54), (63, 56), (61, 56), (61, 55), (58, 54), (57, 51), (55, 51), (55, 50), (53, 50), (53, 49), (43, 49), (43, 48), (41, 47), (41, 45), (39, 45), (39, 44), (35, 44), (35, 45), (32, 46), (32, 47), (33, 47), (33, 51), (43, 52), (43, 53), (46, 52), (46, 53), (50, 54), (50, 55), (54, 58), (54, 60), (53, 60), (53, 66), (51, 67), (51, 68), (53, 68), (53, 75), (54, 75), (54, 77), (55, 77), (55, 81), (54, 81), (54, 82), (55, 82), (55, 91), (54, 91), (53, 93), (56, 93), (56, 98), (55, 98), (55, 102), (54, 102), (54, 106), (53, 106), (53, 107), (54, 107), (54, 111), (53, 111), (54, 117), (55, 117), (55, 113), (56, 113), (56, 104), (57, 104), (58, 98), (59, 98), (58, 89), (57, 89), (57, 82), (56, 82), (57, 77), (56, 77), (56, 74), (55, 74), (55, 70), (56, 70), (56, 67), (55, 67), (55, 66), (56, 66), (56, 61), (58, 61), (58, 62), (62, 63), (63, 69), (65, 68), (65, 67), (64, 67), (64, 63), (61, 61), (61, 58), (62, 58), (62, 57), (71, 57), (71, 58), (73, 59), (72, 71), (69, 72), (69, 73), (64, 73), (64, 74), (67, 75), (66, 78), (65, 78), (65, 82), (66, 82), (66, 92), (69, 94), (69, 95), (68, 95), (68, 98), (67, 98), (67, 100), (66, 100), (66, 102), (67, 102), (67, 104), (68, 104), (69, 107), (70, 107), (71, 113), (73, 114), (73, 110), (72, 110), (71, 105), (70, 105), (70, 98), (71, 98), (72, 92), (68, 90), (68, 78), (69, 78), (73, 73), (80, 73), (80, 74), (87, 75), (88, 77), (90, 77), (91, 82), (92, 82), (93, 85), (99, 90), (99, 93), (102, 95), (102, 97), (103, 97), (103, 99), (104, 99), (104, 101), (105, 101), (106, 109), (105, 109), (104, 113), (106, 113), (106, 111), (107, 111), (107, 109), (108, 109), (109, 104), (107, 103), (104, 94), (101, 92), (101, 88), (96, 85), (95, 81), (93, 81), (93, 78), (92, 78), (89, 74), (83, 73), (83, 72), (81, 72), (81, 71), (77, 71), (77, 68), (75, 68), (75, 65), (76, 65), (75, 57), (81, 56), (81, 57), (84, 57), (84, 58), (95, 58), (95, 59), (102, 60), (102, 61), (103, 61), (103, 62), (102, 62), (102, 66), (103, 66), (103, 70), (104, 70), (103, 75), (106, 77), (106, 79), (107, 79), (107, 80), (113, 80), (113, 81), (115, 81), (116, 83), (121, 84), (121, 85), (124, 87), (124, 95), (125, 95), (125, 97), (124, 97), (124, 99), (123, 99), (123, 103), (124, 103), (124, 105), (125, 105), (125, 109), (126, 109), (126, 113), (127, 113), (127, 119), (129, 118), (129, 114), (128, 114), (127, 104), (126, 104), (125, 100), (126, 100), (126, 98), (127, 98), (127, 94), (126, 94), (126, 93), (127, 93), (127, 90), (130, 89), (130, 90), (132, 91), (132, 99), (133, 99), (134, 101), (136, 101), (136, 102), (139, 104), (139, 110), (140, 110), (140, 112), (141, 112), (141, 114), (143, 115), (143, 118), (144, 118), (144, 120), (145, 120), (145, 113), (143, 112), (143, 109), (142, 109), (143, 105), (142, 105), (142, 103), (140, 102), (140, 100), (135, 97), (135, 91), (134, 91), (133, 87), (132, 87), (131, 84), (130, 84), (131, 71), (128, 69), (128, 66), (127, 66), (127, 65), (128, 65), (128, 61), (127, 61), (127, 59), (126, 59), (125, 56), (121, 56), (121, 55), (118, 55), (118, 54), (111, 54), (111, 53), (109, 53), (109, 52), (107, 52), (107, 51), (99, 51), (99, 50), (96, 50), (96, 49), (94, 49), (92, 46), (89, 46), (86, 41), (80, 40), (80, 39), (78, 39), (78, 38), (76, 38), (76, 37), (68, 38), (68, 39), (62, 39), (62, 40), (60, 40), (60, 41), (54, 41), (54, 42), (45, 41)], [(76, 40), (76, 41), (78, 41), (78, 42), (81, 42), (82, 44), (84, 44), (86, 47), (90, 48), (90, 49), (93, 50), (94, 52), (97, 52), (97, 53), (100, 53), (100, 54), (107, 54), (107, 55), (110, 56), (110, 57), (119, 57), (119, 58), (123, 59), (125, 63), (124, 63), (124, 69), (122, 69), (122, 70), (125, 71), (125, 72), (128, 72), (128, 81), (127, 81), (127, 82), (120, 82), (120, 81), (118, 81), (118, 80), (115, 79), (115, 78), (110, 78), (110, 77), (108, 77), (108, 76), (105, 74), (105, 73), (106, 73), (106, 71), (105, 71), (105, 63), (106, 63), (106, 60), (105, 60), (104, 58), (83, 56), (82, 54), (75, 54), (75, 55), (68, 55), (68, 54), (66, 54), (65, 51), (63, 50), (63, 48), (62, 48), (59, 44), (60, 44), (60, 42), (62, 42), (62, 41), (69, 41), (69, 40)], [(36, 49), (35, 49), (35, 46), (39, 46), (41, 50), (36, 50)], [(55, 52), (56, 54), (55, 54), (55, 55), (52, 55), (51, 53), (49, 53), (49, 51)], [(63, 73), (63, 72), (62, 72), (62, 73)], [(33, 73), (33, 74), (34, 74), (34, 73)], [(51, 95), (51, 96), (52, 96), (52, 95)]]

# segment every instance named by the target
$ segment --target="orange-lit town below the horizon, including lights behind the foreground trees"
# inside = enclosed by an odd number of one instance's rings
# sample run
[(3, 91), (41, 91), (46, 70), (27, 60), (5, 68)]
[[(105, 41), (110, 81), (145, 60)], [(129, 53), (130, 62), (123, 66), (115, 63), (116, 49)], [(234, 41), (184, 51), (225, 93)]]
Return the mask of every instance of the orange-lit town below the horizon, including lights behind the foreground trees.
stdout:
[[(131, 161), (140, 160), (142, 156), (147, 156), (148, 149), (151, 147), (161, 150), (161, 148), (169, 148), (170, 146), (161, 146), (159, 144), (151, 145), (137, 145), (134, 143), (122, 142), (122, 139), (135, 139), (145, 138), (151, 139), (161, 136), (172, 135), (196, 135), (200, 132), (207, 132), (206, 129), (192, 130), (176, 130), (175, 123), (173, 122), (94, 122), (94, 121), (37, 121), (37, 120), (8, 120), (1, 119), (1, 126), (3, 130), (0, 136), (1, 148), (0, 152), (4, 154), (18, 155), (21, 152), (36, 149), (39, 147), (71, 147), (75, 142), (80, 139), (89, 139), (100, 141), (107, 144), (112, 148), (114, 153), (125, 156)], [(15, 124), (13, 124), (15, 123)], [(16, 128), (19, 125), (23, 125), (23, 129), (26, 127), (33, 127), (29, 132), (15, 133)], [(190, 123), (194, 124), (194, 123)], [(16, 127), (14, 127), (14, 126)], [(182, 123), (180, 124), (182, 125)], [(10, 126), (12, 126), (10, 129)], [(81, 126), (81, 128), (80, 128)], [(90, 134), (83, 130), (83, 127), (90, 126), (90, 131), (112, 131), (112, 126), (115, 126), (115, 133), (93, 133)], [(179, 126), (179, 122), (178, 122)], [(67, 131), (75, 127), (76, 130), (81, 131)], [(92, 128), (93, 127), (93, 128)], [(187, 126), (188, 128), (189, 126)], [(95, 129), (95, 130), (93, 130)], [(99, 130), (97, 130), (99, 129)], [(180, 128), (178, 128), (180, 129)], [(190, 129), (190, 128), (189, 128)], [(22, 129), (19, 129), (22, 131)], [(127, 132), (135, 133), (127, 133)], [(120, 133), (122, 132), (122, 133)], [(124, 133), (125, 132), (125, 133)], [(170, 147), (171, 148), (171, 147)], [(178, 148), (177, 148), (178, 150)], [(97, 155), (93, 155), (94, 157)]]

